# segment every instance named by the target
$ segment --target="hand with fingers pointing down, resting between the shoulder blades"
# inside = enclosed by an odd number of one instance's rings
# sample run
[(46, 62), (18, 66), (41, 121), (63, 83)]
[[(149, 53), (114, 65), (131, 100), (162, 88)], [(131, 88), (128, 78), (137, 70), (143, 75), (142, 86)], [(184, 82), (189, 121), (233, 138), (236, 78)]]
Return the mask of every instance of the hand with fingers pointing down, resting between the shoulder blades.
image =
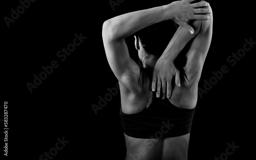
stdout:
[[(178, 68), (174, 65), (173, 60), (169, 60), (165, 56), (161, 56), (155, 65), (152, 79), (152, 90), (155, 92), (157, 89), (157, 98), (160, 97), (161, 86), (162, 86), (162, 95), (161, 98), (170, 98), (172, 93), (172, 79), (175, 76), (175, 83), (180, 87), (180, 72)], [(156, 88), (157, 83), (157, 88)], [(166, 87), (167, 84), (167, 87)], [(167, 92), (166, 92), (167, 91)]]

